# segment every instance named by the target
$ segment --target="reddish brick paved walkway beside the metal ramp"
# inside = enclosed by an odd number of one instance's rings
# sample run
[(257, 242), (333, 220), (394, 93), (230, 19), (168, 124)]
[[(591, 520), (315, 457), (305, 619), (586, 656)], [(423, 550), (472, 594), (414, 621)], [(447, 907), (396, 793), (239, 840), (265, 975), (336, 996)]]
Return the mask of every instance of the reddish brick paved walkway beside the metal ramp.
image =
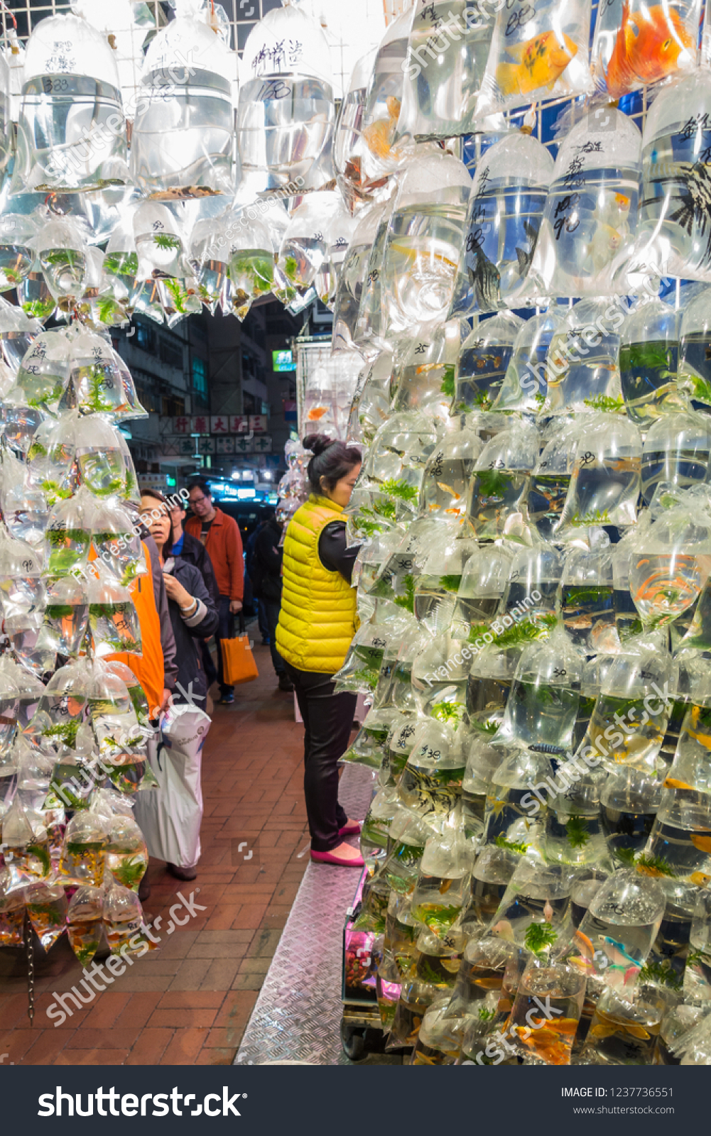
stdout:
[[(309, 859), (302, 727), (294, 722), (293, 695), (276, 688), (269, 649), (256, 645), (254, 653), (259, 679), (235, 688), (234, 707), (216, 707), (206, 742), (198, 878), (183, 884), (159, 861), (149, 868), (152, 893), (144, 909), (162, 917), (159, 950), (136, 960), (59, 1028), (47, 1017), (53, 992), (69, 991), (82, 978), (66, 935), (45, 958), (37, 947), (33, 1027), (24, 952), (0, 950), (6, 1064), (234, 1060)], [(168, 936), (178, 892), (194, 892), (206, 910)]]

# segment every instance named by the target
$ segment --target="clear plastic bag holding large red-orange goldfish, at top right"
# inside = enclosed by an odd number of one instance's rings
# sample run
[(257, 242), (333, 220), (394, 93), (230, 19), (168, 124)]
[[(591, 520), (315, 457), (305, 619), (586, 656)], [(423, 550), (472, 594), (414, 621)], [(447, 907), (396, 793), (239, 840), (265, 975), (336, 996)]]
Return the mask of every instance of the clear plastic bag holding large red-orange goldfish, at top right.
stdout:
[(600, 5), (591, 51), (595, 87), (611, 99), (659, 83), (697, 64), (700, 0)]

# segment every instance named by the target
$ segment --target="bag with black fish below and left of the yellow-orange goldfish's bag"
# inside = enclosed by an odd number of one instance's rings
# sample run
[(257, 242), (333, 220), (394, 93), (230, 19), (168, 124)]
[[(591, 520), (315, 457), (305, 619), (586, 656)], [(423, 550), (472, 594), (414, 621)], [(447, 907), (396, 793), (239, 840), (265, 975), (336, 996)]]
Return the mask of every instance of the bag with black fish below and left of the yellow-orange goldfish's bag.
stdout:
[(479, 159), (452, 315), (522, 301), (552, 177), (550, 152), (525, 132), (507, 135)]

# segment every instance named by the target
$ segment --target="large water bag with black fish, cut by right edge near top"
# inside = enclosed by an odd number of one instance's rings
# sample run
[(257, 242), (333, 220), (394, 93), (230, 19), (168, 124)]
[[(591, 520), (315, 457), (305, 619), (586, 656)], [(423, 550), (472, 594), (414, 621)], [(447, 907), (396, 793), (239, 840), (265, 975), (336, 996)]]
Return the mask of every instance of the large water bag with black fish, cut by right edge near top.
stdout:
[(635, 256), (647, 270), (711, 279), (711, 75), (678, 78), (652, 103), (642, 137), (642, 207)]

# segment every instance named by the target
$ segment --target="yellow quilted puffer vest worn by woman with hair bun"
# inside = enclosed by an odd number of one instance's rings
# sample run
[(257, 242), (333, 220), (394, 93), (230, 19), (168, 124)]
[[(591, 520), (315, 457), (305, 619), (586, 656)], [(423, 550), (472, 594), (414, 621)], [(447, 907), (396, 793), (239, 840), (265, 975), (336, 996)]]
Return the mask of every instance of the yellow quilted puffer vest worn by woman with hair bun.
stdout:
[(332, 675), (356, 632), (356, 588), (340, 571), (324, 568), (318, 557), (321, 532), (341, 512), (341, 506), (312, 493), (286, 529), (276, 645), (298, 670)]

